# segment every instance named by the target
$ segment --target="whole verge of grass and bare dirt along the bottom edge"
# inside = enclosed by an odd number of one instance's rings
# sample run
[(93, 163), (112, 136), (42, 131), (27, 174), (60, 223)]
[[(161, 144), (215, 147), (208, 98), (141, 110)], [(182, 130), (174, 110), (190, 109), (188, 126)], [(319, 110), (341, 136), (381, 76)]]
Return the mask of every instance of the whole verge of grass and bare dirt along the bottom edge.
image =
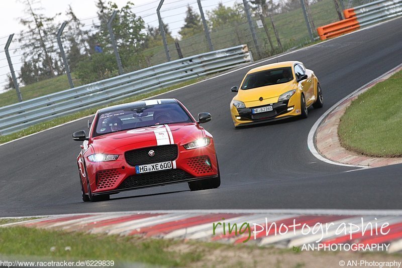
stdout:
[(295, 252), (252, 244), (184, 242), (21, 226), (0, 228), (0, 256), (30, 261), (113, 260), (114, 267), (139, 263), (169, 267), (339, 267), (339, 260), (402, 260), (400, 254), (383, 252)]

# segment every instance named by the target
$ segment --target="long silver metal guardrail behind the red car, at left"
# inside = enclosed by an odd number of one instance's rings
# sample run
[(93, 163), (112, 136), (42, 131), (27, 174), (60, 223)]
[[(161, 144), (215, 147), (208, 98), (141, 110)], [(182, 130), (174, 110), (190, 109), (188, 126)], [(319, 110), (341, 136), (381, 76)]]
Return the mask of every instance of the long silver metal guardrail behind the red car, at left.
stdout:
[(240, 45), (0, 107), (0, 135), (252, 61), (247, 45)]

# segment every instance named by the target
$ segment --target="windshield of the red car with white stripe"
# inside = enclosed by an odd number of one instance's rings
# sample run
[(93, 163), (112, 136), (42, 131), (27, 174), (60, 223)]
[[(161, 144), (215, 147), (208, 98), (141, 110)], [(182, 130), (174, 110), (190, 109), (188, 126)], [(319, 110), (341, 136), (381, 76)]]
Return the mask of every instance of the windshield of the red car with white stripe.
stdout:
[(190, 122), (191, 118), (178, 103), (133, 106), (99, 113), (94, 136), (158, 124)]

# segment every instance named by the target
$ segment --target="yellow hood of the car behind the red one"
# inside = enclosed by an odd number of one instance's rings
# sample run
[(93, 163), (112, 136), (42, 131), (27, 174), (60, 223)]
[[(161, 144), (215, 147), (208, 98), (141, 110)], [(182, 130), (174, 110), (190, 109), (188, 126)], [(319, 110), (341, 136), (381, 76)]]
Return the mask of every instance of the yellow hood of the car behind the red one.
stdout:
[(262, 97), (263, 99), (277, 98), (286, 91), (296, 88), (296, 86), (297, 85), (294, 81), (290, 81), (287, 83), (262, 86), (247, 90), (240, 89), (234, 99), (246, 103), (248, 101), (257, 101), (260, 97)]

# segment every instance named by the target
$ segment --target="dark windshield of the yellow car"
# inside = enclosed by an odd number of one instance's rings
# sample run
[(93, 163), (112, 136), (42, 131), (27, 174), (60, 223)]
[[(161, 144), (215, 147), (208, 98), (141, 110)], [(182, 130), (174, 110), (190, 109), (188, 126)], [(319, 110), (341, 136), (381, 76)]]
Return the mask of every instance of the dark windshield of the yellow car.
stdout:
[(261, 86), (269, 86), (287, 83), (293, 80), (291, 67), (283, 67), (271, 70), (251, 73), (246, 76), (242, 89), (251, 89)]

